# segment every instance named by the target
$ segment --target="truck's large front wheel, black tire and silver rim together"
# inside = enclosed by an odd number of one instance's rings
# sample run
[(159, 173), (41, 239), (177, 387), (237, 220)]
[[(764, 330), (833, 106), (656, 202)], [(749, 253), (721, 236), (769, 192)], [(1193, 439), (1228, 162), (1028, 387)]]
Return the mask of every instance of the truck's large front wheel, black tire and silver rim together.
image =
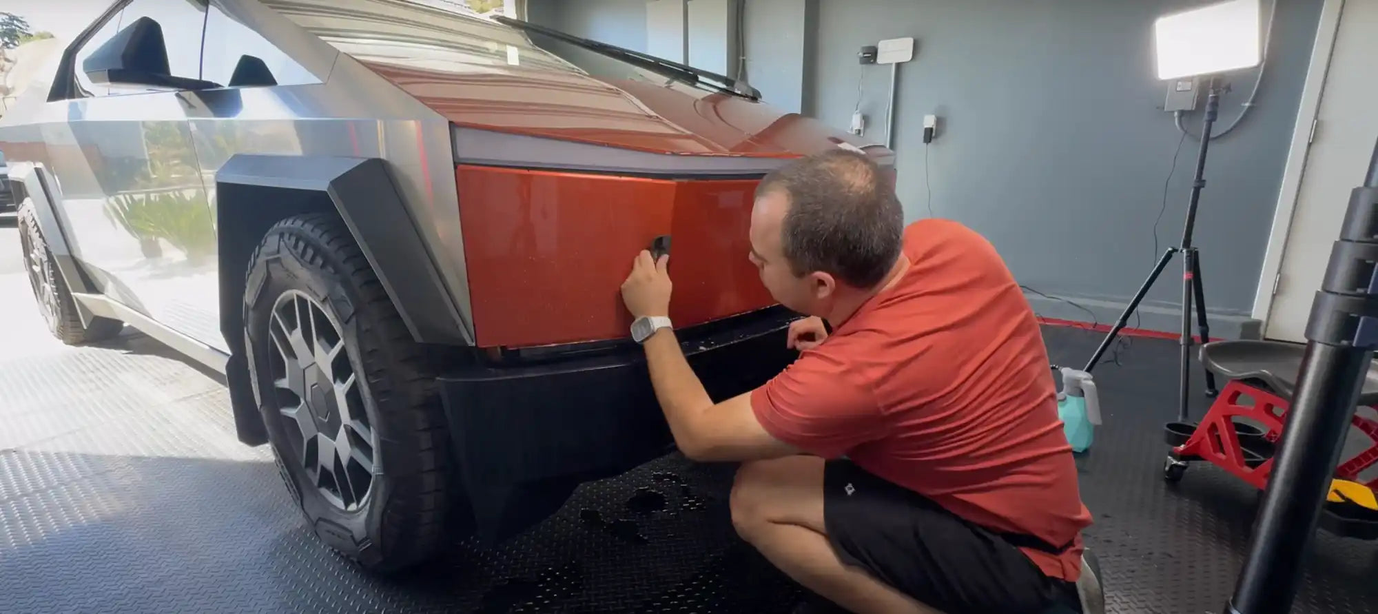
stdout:
[(244, 315), (273, 453), (316, 534), (380, 573), (435, 553), (453, 493), (434, 373), (343, 223), (273, 226)]

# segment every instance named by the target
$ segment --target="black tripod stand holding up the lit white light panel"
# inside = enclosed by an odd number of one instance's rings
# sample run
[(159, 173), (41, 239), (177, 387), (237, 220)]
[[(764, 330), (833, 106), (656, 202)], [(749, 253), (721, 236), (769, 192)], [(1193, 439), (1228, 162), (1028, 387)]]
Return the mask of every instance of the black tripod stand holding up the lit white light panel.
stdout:
[[(1202, 147), (1196, 153), (1196, 176), (1192, 180), (1192, 200), (1186, 205), (1186, 224), (1182, 227), (1182, 242), (1181, 245), (1170, 246), (1163, 252), (1163, 257), (1158, 259), (1158, 264), (1153, 267), (1153, 273), (1148, 274), (1148, 279), (1144, 285), (1138, 288), (1134, 293), (1134, 299), (1129, 301), (1124, 307), (1124, 313), (1120, 314), (1119, 319), (1115, 321), (1115, 326), (1111, 332), (1105, 335), (1101, 340), (1101, 346), (1096, 348), (1096, 354), (1087, 361), (1086, 368), (1082, 369), (1087, 373), (1101, 362), (1101, 357), (1109, 350), (1111, 344), (1119, 336), (1119, 332), (1124, 329), (1129, 324), (1129, 317), (1134, 314), (1138, 308), (1140, 301), (1144, 300), (1144, 295), (1148, 295), (1148, 289), (1153, 286), (1158, 281), (1158, 275), (1163, 273), (1167, 263), (1173, 259), (1174, 253), (1182, 255), (1182, 336), (1178, 340), (1181, 346), (1181, 380), (1178, 383), (1178, 399), (1177, 399), (1177, 419), (1181, 423), (1188, 421), (1188, 391), (1191, 388), (1191, 365), (1192, 365), (1192, 301), (1196, 301), (1196, 325), (1200, 330), (1202, 343), (1210, 340), (1210, 325), (1206, 324), (1206, 288), (1204, 281), (1202, 281), (1202, 267), (1200, 255), (1192, 245), (1192, 230), (1196, 227), (1196, 204), (1200, 201), (1202, 189), (1206, 187), (1206, 151), (1210, 149), (1210, 131), (1215, 125), (1215, 117), (1220, 114), (1220, 95), (1221, 92), (1229, 91), (1229, 85), (1220, 85), (1214, 76), (1209, 77), (1209, 95), (1206, 96), (1206, 117), (1202, 123)], [(1206, 370), (1206, 394), (1209, 396), (1215, 396), (1215, 376), (1210, 370)]]

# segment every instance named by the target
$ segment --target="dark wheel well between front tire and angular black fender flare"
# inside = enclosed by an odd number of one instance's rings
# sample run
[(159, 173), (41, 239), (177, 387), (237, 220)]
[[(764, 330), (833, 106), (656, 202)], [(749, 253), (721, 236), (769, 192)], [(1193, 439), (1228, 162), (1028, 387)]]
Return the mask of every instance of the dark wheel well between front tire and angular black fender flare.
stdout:
[(324, 191), (243, 183), (216, 186), (216, 241), (219, 248), (220, 333), (230, 347), (225, 377), (230, 388), (238, 439), (267, 443), (267, 431), (254, 401), (244, 351), (244, 277), (249, 257), (273, 224), (303, 213), (339, 215)]

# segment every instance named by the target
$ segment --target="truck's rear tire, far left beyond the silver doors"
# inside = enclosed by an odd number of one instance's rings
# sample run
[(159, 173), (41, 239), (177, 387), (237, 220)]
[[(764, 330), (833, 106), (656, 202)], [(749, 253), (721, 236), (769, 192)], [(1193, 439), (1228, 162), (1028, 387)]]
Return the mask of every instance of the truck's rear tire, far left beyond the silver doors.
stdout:
[(17, 216), (19, 249), (23, 251), (29, 288), (39, 303), (39, 313), (43, 314), (48, 332), (68, 346), (103, 341), (119, 335), (124, 329), (124, 322), (119, 319), (92, 317), (90, 325), (81, 324), (76, 299), (72, 297), (66, 279), (58, 271), (52, 251), (48, 249), (43, 230), (39, 229), (33, 207), (29, 198), (19, 205)]

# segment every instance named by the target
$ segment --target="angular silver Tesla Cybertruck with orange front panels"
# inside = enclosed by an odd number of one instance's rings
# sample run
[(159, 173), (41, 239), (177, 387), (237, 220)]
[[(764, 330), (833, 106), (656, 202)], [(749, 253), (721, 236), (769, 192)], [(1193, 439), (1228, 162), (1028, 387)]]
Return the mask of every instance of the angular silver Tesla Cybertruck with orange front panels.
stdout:
[(619, 285), (672, 240), (722, 399), (791, 359), (762, 175), (885, 147), (732, 78), (438, 0), (124, 0), (0, 120), (54, 336), (225, 374), (307, 523), (379, 573), (666, 454)]

